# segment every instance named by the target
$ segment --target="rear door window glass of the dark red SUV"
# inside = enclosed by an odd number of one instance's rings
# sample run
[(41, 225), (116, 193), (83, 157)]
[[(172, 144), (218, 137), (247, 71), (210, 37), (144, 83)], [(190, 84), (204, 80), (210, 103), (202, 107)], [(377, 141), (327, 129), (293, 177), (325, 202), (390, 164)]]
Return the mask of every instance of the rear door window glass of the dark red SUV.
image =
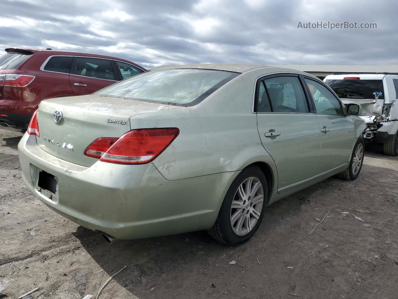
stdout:
[(95, 79), (117, 80), (109, 59), (76, 57), (76, 63), (70, 73)]

